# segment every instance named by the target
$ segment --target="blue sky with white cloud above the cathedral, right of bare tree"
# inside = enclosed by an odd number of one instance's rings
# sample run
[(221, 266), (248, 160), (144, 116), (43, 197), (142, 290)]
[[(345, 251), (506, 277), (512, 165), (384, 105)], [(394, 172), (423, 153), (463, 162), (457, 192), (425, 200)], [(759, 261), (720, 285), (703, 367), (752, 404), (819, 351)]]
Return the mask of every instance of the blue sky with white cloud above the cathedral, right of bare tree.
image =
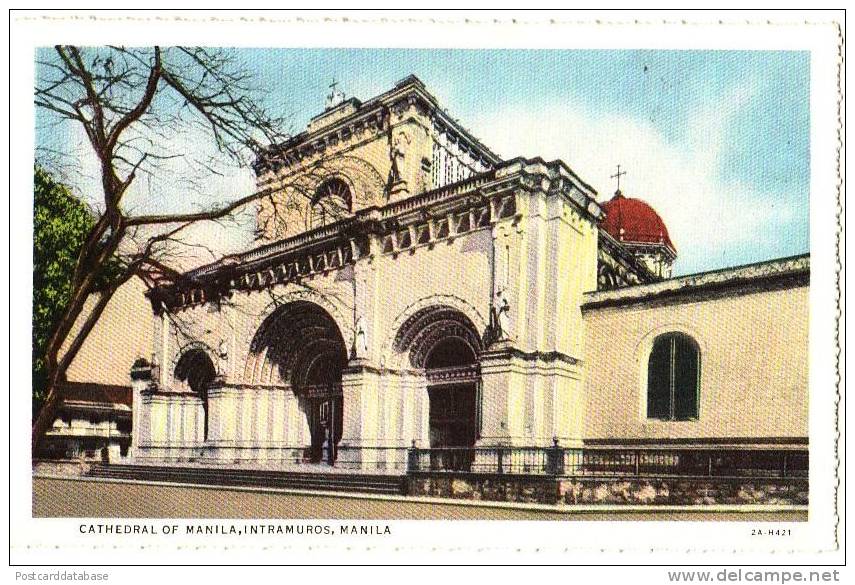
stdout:
[[(806, 52), (241, 49), (300, 131), (332, 79), (368, 99), (413, 73), (503, 157), (561, 158), (605, 201), (650, 202), (678, 273), (809, 249)], [(246, 177), (236, 185), (245, 184)]]

